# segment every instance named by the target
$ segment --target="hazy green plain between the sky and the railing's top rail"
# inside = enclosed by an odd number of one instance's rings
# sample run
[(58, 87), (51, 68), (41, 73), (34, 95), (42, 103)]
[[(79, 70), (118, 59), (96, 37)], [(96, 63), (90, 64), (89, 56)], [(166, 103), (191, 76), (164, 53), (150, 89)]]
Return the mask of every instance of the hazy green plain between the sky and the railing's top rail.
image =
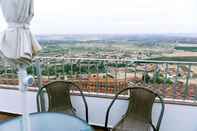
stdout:
[(99, 59), (197, 61), (193, 35), (46, 35), (37, 36), (40, 56)]

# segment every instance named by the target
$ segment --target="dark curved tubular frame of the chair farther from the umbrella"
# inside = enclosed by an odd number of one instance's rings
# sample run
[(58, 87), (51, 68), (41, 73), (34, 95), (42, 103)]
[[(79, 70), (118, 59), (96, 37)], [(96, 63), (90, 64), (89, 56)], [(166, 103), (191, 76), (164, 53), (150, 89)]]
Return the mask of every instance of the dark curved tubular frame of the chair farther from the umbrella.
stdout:
[[(151, 125), (151, 127), (153, 128), (154, 131), (159, 131), (160, 125), (161, 125), (161, 121), (162, 121), (162, 118), (163, 118), (163, 114), (164, 114), (164, 109), (165, 109), (164, 101), (163, 101), (162, 97), (161, 97), (159, 94), (155, 93), (154, 91), (152, 91), (152, 90), (150, 90), (150, 89), (148, 89), (148, 88), (141, 87), (141, 86), (128, 87), (128, 88), (122, 89), (121, 91), (119, 91), (119, 92), (115, 95), (115, 97), (113, 98), (113, 100), (112, 100), (112, 102), (110, 103), (110, 105), (109, 105), (109, 107), (108, 107), (108, 109), (107, 109), (107, 112), (106, 112), (106, 118), (105, 118), (105, 130), (106, 130), (106, 131), (108, 131), (108, 120), (109, 120), (110, 109), (111, 109), (111, 107), (113, 106), (115, 100), (118, 98), (118, 96), (119, 96), (121, 93), (123, 93), (123, 92), (125, 92), (125, 91), (127, 91), (127, 90), (132, 91), (133, 89), (143, 89), (143, 90), (146, 90), (146, 91), (148, 91), (148, 92), (150, 92), (150, 93), (153, 93), (153, 94), (155, 95), (155, 98), (156, 98), (156, 97), (159, 98), (159, 100), (160, 100), (160, 102), (161, 102), (162, 108), (161, 108), (161, 112), (160, 112), (160, 115), (159, 115), (159, 119), (158, 119), (158, 121), (157, 121), (157, 125), (156, 125), (156, 127), (155, 127), (155, 126), (153, 125), (152, 121), (149, 123), (149, 124)], [(130, 96), (130, 97), (131, 97), (131, 96)]]

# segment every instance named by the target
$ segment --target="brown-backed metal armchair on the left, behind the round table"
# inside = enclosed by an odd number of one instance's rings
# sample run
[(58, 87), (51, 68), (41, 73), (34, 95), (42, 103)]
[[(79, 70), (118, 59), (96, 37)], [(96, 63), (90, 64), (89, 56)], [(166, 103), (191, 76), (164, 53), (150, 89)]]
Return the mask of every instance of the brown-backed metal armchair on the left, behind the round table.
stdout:
[[(70, 115), (76, 115), (76, 110), (73, 108), (70, 98), (70, 90), (73, 88), (77, 89), (82, 96), (85, 105), (86, 121), (88, 122), (88, 105), (84, 94), (76, 84), (69, 81), (55, 81), (40, 88), (37, 93), (38, 112), (63, 112)], [(46, 96), (45, 94), (47, 94), (48, 97), (49, 107), (47, 110), (43, 102), (43, 97)]]

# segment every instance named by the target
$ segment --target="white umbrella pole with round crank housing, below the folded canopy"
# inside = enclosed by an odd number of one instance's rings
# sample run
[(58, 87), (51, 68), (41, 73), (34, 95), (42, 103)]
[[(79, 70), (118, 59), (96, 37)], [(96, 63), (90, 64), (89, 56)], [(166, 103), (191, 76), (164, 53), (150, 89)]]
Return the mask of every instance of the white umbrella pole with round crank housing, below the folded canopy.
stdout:
[(19, 90), (21, 92), (21, 104), (22, 104), (22, 127), (23, 131), (31, 131), (30, 117), (27, 109), (27, 87), (33, 83), (33, 78), (27, 75), (26, 65), (19, 65), (18, 67), (19, 77)]

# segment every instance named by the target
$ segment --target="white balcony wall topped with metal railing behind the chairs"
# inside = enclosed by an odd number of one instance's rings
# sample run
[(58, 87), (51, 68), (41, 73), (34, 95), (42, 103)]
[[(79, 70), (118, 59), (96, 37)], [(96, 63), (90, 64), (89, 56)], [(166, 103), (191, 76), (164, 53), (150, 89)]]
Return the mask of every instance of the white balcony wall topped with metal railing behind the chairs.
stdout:
[[(29, 112), (37, 111), (36, 91), (39, 87), (55, 80), (69, 80), (78, 84), (86, 95), (90, 124), (102, 127), (114, 94), (128, 86), (142, 85), (164, 97), (166, 109), (161, 131), (197, 130), (197, 62), (42, 57), (33, 61), (28, 72), (35, 78), (28, 92)], [(21, 114), (14, 65), (1, 66), (0, 82), (0, 111)], [(85, 119), (84, 105), (78, 92), (73, 90), (72, 94), (77, 115)], [(123, 94), (113, 106), (110, 127), (126, 112), (127, 96), (128, 93)], [(160, 103), (155, 101), (154, 122), (159, 109)]]

